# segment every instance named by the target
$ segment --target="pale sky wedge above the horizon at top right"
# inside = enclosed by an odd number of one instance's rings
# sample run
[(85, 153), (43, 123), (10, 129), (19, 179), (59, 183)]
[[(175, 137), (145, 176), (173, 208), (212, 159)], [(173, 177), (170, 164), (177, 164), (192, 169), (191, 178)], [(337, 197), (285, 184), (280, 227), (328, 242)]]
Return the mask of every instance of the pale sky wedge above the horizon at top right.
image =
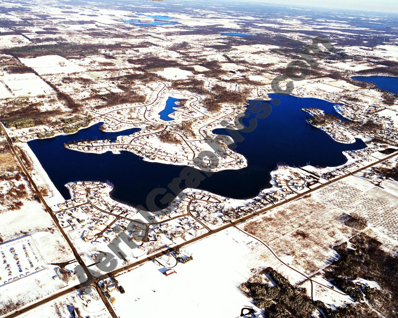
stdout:
[(398, 0), (258, 0), (275, 4), (292, 4), (347, 10), (398, 13)]

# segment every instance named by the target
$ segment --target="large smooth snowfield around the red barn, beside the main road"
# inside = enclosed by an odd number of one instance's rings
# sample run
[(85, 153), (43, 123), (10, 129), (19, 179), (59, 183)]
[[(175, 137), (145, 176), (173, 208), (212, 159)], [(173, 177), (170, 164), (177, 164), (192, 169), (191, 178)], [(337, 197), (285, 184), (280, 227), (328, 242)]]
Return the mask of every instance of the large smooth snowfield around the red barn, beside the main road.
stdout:
[(153, 262), (118, 276), (126, 293), (111, 292), (117, 315), (153, 316), (162, 308), (163, 318), (239, 316), (243, 307), (253, 306), (238, 289), (252, 275), (245, 259), (251, 253), (248, 243), (246, 235), (228, 229), (181, 248), (193, 260), (177, 264), (170, 276)]

